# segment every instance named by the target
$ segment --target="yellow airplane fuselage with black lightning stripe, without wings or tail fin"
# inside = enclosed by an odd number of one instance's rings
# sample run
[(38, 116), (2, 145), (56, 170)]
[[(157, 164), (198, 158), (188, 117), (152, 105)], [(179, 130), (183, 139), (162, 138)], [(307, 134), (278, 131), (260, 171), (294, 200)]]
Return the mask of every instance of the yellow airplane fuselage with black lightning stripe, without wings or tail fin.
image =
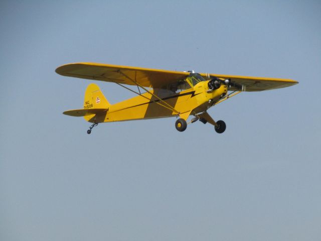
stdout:
[[(202, 81), (193, 88), (179, 93), (171, 93), (161, 97), (157, 90), (152, 90), (130, 99), (112, 104), (106, 113), (84, 116), (89, 122), (119, 122), (135, 119), (161, 118), (181, 116), (187, 119), (190, 114), (206, 111), (221, 97), (227, 94), (227, 85), (222, 84), (218, 89), (209, 91), (208, 81)], [(168, 103), (168, 105), (166, 103)], [(173, 106), (175, 110), (169, 108)]]

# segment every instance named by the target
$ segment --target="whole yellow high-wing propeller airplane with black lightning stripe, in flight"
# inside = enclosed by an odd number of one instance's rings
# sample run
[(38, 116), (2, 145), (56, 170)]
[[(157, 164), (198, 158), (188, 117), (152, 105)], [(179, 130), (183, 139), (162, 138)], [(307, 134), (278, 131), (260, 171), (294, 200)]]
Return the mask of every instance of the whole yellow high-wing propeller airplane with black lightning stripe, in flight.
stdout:
[[(223, 133), (226, 125), (223, 121), (214, 121), (207, 112), (210, 107), (243, 91), (283, 88), (298, 83), (291, 79), (179, 72), (97, 63), (66, 64), (58, 67), (56, 72), (63, 76), (113, 82), (137, 94), (133, 98), (110, 104), (98, 85), (89, 84), (83, 108), (63, 112), (71, 116), (83, 116), (92, 123), (88, 134), (98, 123), (171, 116), (178, 117), (175, 127), (179, 132), (185, 131), (187, 124), (199, 120), (204, 124), (212, 124), (217, 133)], [(194, 117), (187, 123), (190, 115)]]

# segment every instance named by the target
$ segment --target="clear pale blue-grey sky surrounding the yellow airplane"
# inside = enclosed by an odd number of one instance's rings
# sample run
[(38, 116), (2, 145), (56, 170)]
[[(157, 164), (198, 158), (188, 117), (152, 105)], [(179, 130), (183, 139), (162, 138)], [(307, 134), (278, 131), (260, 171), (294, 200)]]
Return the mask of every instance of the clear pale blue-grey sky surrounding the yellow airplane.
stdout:
[[(1, 1), (0, 239), (320, 240), (319, 1)], [(289, 78), (175, 118), (63, 115), (89, 83), (66, 63)]]

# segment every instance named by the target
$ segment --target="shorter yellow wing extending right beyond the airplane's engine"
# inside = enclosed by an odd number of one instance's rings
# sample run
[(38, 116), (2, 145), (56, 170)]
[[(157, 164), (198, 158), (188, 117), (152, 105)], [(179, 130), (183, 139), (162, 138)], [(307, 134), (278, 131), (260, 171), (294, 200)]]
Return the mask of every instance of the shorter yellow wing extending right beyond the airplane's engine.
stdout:
[(210, 76), (210, 78), (218, 77), (221, 79), (230, 79), (231, 86), (229, 90), (240, 91), (262, 91), (269, 89), (278, 89), (288, 87), (298, 82), (292, 79), (265, 78), (265, 77), (249, 77), (224, 74), (201, 74), (202, 76)]

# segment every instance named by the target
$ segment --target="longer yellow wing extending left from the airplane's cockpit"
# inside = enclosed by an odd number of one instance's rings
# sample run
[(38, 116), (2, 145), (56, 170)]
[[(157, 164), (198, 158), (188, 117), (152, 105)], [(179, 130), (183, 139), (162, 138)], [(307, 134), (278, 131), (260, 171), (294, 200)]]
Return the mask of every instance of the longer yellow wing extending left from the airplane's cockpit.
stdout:
[(136, 85), (136, 81), (141, 86), (152, 88), (162, 88), (168, 84), (183, 80), (189, 75), (187, 72), (98, 63), (65, 64), (58, 67), (56, 72), (64, 76), (119, 84)]

